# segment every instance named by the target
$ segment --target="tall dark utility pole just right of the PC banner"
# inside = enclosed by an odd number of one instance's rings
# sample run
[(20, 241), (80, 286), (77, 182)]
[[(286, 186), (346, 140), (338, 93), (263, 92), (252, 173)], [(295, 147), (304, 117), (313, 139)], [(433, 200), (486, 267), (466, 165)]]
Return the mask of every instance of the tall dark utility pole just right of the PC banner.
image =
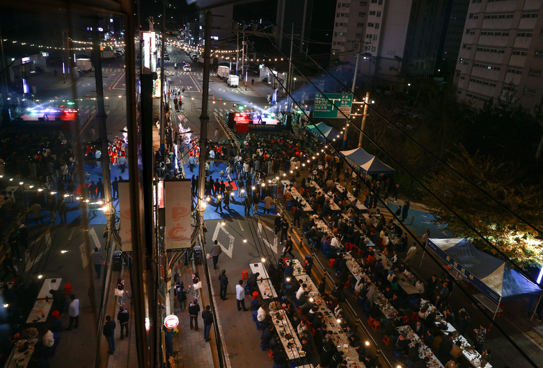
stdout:
[[(210, 58), (211, 58), (211, 25), (213, 19), (211, 12), (207, 10), (205, 13), (205, 33), (204, 33), (204, 69), (203, 69), (203, 84), (202, 84), (202, 115), (200, 115), (200, 162), (198, 165), (198, 226), (200, 231), (204, 226), (203, 215), (205, 211), (205, 156), (207, 143), (207, 123), (210, 117), (207, 115), (207, 104), (209, 99), (210, 89)], [(237, 68), (237, 65), (236, 65)], [(202, 244), (203, 245), (203, 244)]]

